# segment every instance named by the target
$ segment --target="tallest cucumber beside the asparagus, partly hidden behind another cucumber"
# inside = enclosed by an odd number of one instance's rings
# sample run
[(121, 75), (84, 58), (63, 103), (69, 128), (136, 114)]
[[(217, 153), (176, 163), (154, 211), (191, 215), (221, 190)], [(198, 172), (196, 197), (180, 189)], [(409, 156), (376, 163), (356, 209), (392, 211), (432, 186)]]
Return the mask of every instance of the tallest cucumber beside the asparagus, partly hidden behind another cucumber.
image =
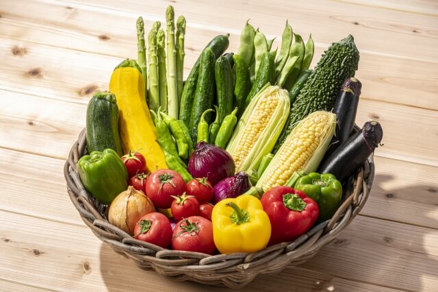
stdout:
[[(218, 58), (229, 46), (229, 34), (219, 35), (211, 40), (206, 48), (210, 48), (213, 51), (215, 58)], [(190, 127), (190, 116), (192, 114), (192, 106), (194, 100), (194, 93), (196, 91), (196, 84), (198, 82), (199, 64), (201, 63), (201, 56), (193, 65), (192, 71), (185, 80), (183, 87), (183, 93), (181, 94), (181, 102), (179, 104), (179, 119), (182, 120), (185, 125)]]

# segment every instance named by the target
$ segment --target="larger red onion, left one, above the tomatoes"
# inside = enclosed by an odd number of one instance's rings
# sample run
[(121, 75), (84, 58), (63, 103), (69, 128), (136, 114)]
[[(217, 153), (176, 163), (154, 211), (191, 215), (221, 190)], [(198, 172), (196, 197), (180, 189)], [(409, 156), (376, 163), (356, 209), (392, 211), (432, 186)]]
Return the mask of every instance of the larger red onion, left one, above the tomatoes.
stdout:
[(235, 164), (227, 151), (201, 141), (190, 155), (188, 170), (194, 178), (208, 178), (215, 185), (234, 174)]

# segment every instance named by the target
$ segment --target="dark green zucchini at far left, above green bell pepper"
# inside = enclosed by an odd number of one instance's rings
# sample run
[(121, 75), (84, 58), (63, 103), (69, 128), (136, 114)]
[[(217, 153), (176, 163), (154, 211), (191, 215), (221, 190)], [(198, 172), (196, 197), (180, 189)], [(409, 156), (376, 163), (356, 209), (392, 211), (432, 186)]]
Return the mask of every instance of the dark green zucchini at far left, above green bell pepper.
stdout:
[(87, 107), (87, 148), (92, 151), (113, 149), (123, 155), (118, 133), (118, 106), (116, 95), (109, 91), (95, 93)]

